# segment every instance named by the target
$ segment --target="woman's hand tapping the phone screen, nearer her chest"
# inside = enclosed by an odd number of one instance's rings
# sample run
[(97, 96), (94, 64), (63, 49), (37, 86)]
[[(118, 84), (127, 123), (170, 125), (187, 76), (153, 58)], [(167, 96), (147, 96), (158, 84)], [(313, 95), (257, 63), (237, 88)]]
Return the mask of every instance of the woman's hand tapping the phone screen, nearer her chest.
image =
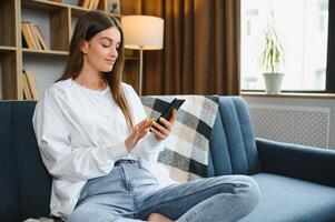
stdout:
[(152, 122), (150, 120), (145, 119), (131, 129), (129, 137), (125, 141), (128, 152), (130, 152), (135, 148), (140, 139), (146, 137), (151, 124)]

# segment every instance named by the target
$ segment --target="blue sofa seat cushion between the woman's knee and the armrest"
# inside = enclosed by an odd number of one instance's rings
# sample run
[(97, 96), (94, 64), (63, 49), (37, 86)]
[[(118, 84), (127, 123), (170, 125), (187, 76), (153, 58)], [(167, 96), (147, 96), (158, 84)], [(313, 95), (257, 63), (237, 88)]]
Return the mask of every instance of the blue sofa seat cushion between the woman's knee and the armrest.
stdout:
[(242, 222), (335, 221), (335, 188), (283, 175), (253, 175), (260, 202)]

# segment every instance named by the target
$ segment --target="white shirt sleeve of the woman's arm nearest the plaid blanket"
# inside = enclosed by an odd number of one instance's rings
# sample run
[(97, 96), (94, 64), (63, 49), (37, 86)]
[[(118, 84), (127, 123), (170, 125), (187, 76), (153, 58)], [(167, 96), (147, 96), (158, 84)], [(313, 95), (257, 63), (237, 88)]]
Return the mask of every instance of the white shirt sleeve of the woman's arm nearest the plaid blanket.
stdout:
[[(131, 101), (129, 103), (131, 107), (135, 124), (137, 124), (148, 117), (140, 101), (140, 98), (137, 95), (132, 87), (127, 85), (127, 88), (128, 101)], [(156, 139), (154, 133), (148, 132), (148, 134), (137, 143), (134, 152), (142, 161), (156, 162), (159, 152), (164, 149), (162, 143), (162, 141)]]

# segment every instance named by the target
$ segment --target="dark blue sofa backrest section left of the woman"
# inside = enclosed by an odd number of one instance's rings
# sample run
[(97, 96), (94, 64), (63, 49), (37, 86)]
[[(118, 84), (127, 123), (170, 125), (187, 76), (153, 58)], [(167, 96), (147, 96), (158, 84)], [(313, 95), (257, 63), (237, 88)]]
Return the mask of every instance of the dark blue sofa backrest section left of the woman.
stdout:
[(51, 178), (32, 128), (35, 101), (0, 102), (0, 221), (49, 214)]

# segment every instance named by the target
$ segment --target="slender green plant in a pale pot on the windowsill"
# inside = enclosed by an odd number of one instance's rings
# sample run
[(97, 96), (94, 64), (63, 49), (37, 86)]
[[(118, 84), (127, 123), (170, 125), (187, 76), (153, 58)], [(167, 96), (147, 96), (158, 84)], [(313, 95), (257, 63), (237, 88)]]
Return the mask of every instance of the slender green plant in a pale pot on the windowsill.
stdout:
[(264, 48), (262, 64), (266, 93), (279, 93), (284, 73), (278, 72), (284, 63), (284, 49), (275, 29), (274, 12), (270, 11), (270, 20), (264, 32)]

